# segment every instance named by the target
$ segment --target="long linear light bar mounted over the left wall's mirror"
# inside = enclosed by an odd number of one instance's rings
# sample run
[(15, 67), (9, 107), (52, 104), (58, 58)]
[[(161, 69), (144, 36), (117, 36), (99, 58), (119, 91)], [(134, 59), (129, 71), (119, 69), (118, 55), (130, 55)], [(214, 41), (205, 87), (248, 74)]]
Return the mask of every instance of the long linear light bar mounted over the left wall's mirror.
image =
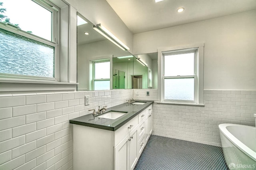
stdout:
[(128, 46), (126, 46), (123, 42), (121, 42), (114, 34), (112, 34), (109, 30), (107, 30), (104, 26), (101, 24), (97, 24), (96, 26), (93, 26), (93, 29), (96, 30), (98, 33), (102, 34), (104, 37), (106, 37), (108, 40), (110, 40), (112, 43), (116, 44), (119, 48), (122, 50), (130, 50)]

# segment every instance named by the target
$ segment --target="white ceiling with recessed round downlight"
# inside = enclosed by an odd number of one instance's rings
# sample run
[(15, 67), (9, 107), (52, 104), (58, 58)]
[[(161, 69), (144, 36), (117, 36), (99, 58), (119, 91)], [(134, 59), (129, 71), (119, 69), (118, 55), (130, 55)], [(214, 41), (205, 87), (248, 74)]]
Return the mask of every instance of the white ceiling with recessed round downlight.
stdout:
[(106, 1), (133, 34), (256, 10), (256, 0)]

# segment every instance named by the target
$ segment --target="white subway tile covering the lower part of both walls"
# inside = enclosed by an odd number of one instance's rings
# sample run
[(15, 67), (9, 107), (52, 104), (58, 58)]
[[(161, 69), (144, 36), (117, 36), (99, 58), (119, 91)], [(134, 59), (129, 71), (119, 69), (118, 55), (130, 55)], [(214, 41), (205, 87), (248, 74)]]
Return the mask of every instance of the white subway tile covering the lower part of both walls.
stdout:
[[(87, 95), (90, 105), (84, 106)], [(0, 169), (72, 170), (69, 120), (129, 98), (157, 101), (157, 89), (0, 95)], [(204, 104), (154, 102), (153, 134), (221, 146), (218, 124), (255, 126), (255, 90), (204, 90)]]

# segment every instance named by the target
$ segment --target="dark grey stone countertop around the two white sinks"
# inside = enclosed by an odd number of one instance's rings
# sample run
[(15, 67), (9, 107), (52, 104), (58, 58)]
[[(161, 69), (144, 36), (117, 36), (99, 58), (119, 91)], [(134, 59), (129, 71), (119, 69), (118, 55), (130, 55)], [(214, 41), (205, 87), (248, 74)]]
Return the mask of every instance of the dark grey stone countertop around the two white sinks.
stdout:
[(69, 122), (72, 124), (78, 124), (82, 126), (89, 126), (93, 128), (116, 131), (126, 122), (128, 122), (129, 120), (134, 118), (136, 115), (138, 115), (140, 112), (142, 112), (144, 109), (146, 109), (148, 106), (153, 104), (153, 101), (143, 101), (143, 102), (146, 102), (146, 103), (145, 104), (123, 103), (123, 104), (108, 108), (108, 110), (106, 110), (105, 113), (111, 110), (127, 112), (123, 116), (120, 116), (119, 118), (116, 118), (116, 119), (98, 118), (97, 116), (102, 114), (92, 115), (90, 113), (84, 116), (80, 116), (78, 118), (71, 119)]

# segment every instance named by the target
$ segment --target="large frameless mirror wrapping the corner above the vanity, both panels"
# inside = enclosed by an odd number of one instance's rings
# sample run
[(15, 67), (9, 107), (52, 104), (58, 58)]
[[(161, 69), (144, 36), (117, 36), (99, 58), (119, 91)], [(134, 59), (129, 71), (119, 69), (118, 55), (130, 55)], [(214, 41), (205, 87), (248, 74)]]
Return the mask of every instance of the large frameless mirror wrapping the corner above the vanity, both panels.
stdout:
[(157, 53), (132, 55), (77, 14), (78, 91), (157, 88)]

